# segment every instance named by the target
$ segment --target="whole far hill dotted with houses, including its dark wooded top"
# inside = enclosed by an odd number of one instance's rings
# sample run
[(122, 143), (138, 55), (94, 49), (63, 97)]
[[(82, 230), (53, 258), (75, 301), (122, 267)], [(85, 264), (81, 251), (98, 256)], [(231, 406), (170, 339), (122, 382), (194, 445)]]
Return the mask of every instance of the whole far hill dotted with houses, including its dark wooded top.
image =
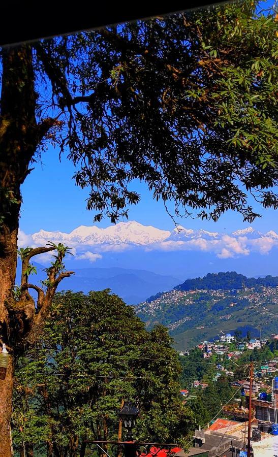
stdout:
[(148, 329), (158, 323), (166, 325), (179, 349), (211, 340), (222, 332), (233, 334), (238, 328), (267, 337), (277, 331), (276, 286), (278, 278), (272, 276), (208, 274), (185, 281), (169, 292), (157, 293), (140, 303), (136, 312)]

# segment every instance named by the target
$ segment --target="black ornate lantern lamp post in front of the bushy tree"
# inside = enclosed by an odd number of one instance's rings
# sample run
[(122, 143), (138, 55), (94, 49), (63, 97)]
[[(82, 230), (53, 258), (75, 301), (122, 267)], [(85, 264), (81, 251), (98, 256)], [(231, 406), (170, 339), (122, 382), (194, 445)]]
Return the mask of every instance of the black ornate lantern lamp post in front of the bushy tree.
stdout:
[(132, 402), (125, 402), (123, 407), (118, 411), (118, 416), (122, 420), (123, 427), (127, 429), (127, 441), (125, 441), (126, 457), (136, 456), (136, 445), (132, 435), (132, 429), (140, 410)]

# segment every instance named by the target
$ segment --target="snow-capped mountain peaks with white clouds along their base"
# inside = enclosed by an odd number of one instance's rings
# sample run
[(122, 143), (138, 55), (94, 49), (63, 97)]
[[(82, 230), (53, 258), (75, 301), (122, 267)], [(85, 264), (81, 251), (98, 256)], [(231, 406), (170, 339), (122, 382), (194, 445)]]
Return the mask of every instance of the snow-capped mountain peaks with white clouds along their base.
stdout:
[(278, 235), (273, 230), (261, 233), (249, 226), (230, 234), (193, 230), (178, 225), (172, 232), (136, 221), (119, 222), (106, 228), (96, 225), (80, 225), (71, 233), (46, 232), (40, 230), (33, 235), (20, 233), (18, 245), (24, 247), (45, 245), (48, 241), (65, 243), (74, 248), (76, 259), (95, 262), (102, 258), (100, 253), (141, 248), (146, 251), (194, 250), (214, 253), (217, 257), (232, 258), (246, 256), (252, 252), (268, 254), (278, 247)]

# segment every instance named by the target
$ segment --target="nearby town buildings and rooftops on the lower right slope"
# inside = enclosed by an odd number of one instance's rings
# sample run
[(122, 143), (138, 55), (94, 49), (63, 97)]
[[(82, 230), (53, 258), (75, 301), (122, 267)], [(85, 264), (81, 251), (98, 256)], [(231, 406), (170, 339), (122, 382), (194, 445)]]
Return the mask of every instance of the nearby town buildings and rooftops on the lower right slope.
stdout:
[[(197, 449), (200, 452), (197, 455), (247, 455), (246, 440), (250, 422), (251, 455), (273, 457), (278, 448), (278, 351), (274, 350), (276, 355), (264, 363), (252, 363), (255, 367), (252, 376), (249, 374), (245, 379), (237, 378), (236, 371), (243, 354), (248, 354), (250, 360), (254, 355), (255, 360), (255, 355), (262, 352), (263, 348), (278, 347), (278, 334), (272, 334), (267, 340), (250, 337), (239, 340), (238, 337), (238, 334), (223, 333), (219, 340), (203, 341), (193, 349), (201, 352), (204, 363), (211, 363), (212, 358), (215, 360), (216, 374), (212, 382), (223, 383), (226, 380), (232, 388), (230, 401), (221, 405), (220, 413), (205, 427), (199, 426), (195, 430), (194, 446), (196, 452)], [(231, 347), (234, 349), (231, 350)], [(187, 360), (190, 353), (191, 351), (180, 351), (179, 356), (181, 360)], [(227, 369), (231, 364), (234, 365), (232, 371)], [(180, 395), (184, 404), (190, 405), (198, 402), (198, 398), (204, 395), (202, 392), (208, 389), (209, 382), (195, 379), (189, 383), (188, 388), (180, 390)], [(201, 454), (201, 451), (204, 453)]]

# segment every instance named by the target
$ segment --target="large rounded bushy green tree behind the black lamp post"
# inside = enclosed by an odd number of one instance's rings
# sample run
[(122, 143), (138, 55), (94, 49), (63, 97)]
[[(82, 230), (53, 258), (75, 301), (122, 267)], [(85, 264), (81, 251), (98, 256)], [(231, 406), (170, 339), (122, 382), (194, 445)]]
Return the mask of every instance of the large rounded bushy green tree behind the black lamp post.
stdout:
[(128, 399), (141, 408), (137, 439), (182, 439), (194, 418), (181, 402), (171, 344), (166, 328), (148, 333), (109, 290), (57, 293), (36, 347), (18, 361), (17, 448), (74, 457), (84, 438), (117, 440), (115, 410)]

